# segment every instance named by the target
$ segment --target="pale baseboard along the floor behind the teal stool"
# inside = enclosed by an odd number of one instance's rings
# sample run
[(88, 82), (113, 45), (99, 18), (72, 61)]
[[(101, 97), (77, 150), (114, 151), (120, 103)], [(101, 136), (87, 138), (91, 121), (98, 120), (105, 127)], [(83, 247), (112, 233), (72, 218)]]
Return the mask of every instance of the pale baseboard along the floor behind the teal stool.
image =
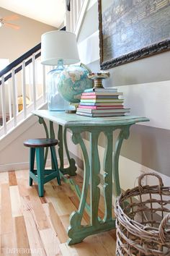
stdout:
[[(68, 159), (63, 159), (64, 164), (68, 164)], [(58, 163), (60, 163), (58, 159)], [(46, 166), (50, 166), (51, 161), (50, 159), (47, 160)], [(27, 170), (29, 169), (29, 162), (23, 162), (23, 163), (8, 163), (4, 165), (0, 165), (0, 172), (4, 171), (19, 171), (19, 170)]]

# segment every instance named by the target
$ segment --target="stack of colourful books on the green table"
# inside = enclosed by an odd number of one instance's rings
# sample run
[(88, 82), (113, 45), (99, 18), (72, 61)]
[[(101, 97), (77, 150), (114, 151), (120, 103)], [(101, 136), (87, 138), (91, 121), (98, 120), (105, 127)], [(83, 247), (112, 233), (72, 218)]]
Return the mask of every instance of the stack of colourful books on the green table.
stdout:
[(81, 95), (76, 114), (81, 116), (124, 116), (130, 108), (124, 108), (123, 99), (116, 88), (92, 88)]

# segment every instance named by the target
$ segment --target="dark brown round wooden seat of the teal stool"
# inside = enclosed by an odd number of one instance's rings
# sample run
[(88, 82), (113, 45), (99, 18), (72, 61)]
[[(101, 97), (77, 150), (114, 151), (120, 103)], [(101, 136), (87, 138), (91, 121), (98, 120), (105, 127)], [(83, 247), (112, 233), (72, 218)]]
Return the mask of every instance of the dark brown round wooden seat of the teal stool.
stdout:
[(55, 139), (42, 138), (24, 141), (24, 146), (30, 148), (47, 148), (55, 145), (58, 145), (58, 140)]

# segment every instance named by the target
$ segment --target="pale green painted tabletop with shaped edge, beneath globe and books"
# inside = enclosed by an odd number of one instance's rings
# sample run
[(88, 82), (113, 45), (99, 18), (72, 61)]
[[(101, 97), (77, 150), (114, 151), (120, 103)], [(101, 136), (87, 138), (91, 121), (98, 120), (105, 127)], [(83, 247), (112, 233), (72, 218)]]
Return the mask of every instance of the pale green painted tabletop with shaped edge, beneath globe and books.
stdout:
[(63, 127), (84, 127), (84, 126), (119, 126), (149, 121), (146, 117), (140, 116), (104, 116), (89, 117), (76, 114), (66, 114), (64, 111), (36, 110), (32, 114), (48, 119)]

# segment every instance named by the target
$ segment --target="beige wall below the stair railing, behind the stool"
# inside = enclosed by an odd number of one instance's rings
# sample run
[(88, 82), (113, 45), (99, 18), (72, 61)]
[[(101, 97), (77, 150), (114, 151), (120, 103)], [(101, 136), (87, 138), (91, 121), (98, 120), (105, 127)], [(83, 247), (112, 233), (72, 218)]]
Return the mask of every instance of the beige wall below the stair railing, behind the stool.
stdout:
[(12, 134), (1, 141), (0, 171), (9, 171), (28, 168), (29, 148), (24, 147), (24, 140), (35, 137), (44, 137), (42, 126), (37, 118), (32, 116), (24, 121)]

